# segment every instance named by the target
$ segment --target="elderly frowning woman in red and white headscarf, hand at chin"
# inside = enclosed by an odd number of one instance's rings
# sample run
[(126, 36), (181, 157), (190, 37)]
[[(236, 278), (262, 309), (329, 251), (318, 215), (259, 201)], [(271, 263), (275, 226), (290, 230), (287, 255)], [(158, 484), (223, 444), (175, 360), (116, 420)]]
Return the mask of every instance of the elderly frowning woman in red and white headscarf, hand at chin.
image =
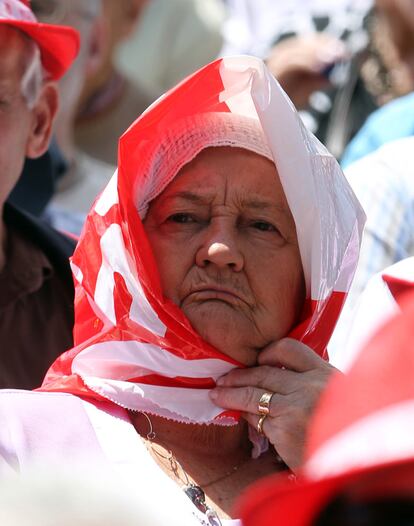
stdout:
[(121, 139), (72, 260), (76, 346), (48, 392), (0, 396), (3, 464), (83, 457), (229, 519), (300, 465), (362, 222), (261, 61), (188, 78)]

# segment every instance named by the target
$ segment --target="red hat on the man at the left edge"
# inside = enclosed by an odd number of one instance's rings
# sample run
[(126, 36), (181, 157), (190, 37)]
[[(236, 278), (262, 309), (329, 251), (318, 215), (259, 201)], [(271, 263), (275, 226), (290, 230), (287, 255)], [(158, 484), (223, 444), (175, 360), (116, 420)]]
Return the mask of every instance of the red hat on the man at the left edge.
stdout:
[(43, 68), (53, 80), (64, 75), (78, 54), (78, 32), (67, 26), (39, 23), (30, 0), (0, 0), (0, 24), (19, 29), (39, 46)]

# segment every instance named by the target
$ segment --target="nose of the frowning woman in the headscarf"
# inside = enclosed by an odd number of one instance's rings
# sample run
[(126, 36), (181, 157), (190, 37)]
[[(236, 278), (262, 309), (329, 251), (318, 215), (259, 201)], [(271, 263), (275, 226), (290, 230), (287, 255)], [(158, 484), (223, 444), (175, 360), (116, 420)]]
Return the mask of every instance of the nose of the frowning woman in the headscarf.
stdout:
[(237, 233), (231, 228), (207, 228), (196, 254), (196, 264), (200, 267), (216, 265), (240, 272), (244, 266), (244, 257), (238, 246)]

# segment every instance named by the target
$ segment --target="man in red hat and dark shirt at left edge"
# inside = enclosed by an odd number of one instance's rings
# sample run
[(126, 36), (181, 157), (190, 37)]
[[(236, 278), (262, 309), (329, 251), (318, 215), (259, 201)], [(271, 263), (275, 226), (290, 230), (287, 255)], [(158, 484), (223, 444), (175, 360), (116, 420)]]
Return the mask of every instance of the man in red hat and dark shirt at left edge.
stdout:
[(73, 244), (6, 203), (25, 158), (48, 148), (56, 81), (79, 48), (76, 31), (39, 24), (28, 1), (0, 0), (0, 385), (37, 387), (71, 345)]

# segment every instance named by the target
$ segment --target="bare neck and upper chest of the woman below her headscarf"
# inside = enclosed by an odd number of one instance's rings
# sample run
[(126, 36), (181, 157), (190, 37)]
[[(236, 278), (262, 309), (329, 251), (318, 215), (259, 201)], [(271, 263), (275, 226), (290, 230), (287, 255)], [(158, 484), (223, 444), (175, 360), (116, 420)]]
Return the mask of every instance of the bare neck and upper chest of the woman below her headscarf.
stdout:
[(231, 517), (235, 499), (249, 484), (282, 469), (272, 449), (252, 459), (244, 421), (235, 426), (194, 425), (149, 415), (150, 425), (142, 413), (130, 417), (167, 476), (179, 486), (202, 488), (207, 504), (221, 518)]

